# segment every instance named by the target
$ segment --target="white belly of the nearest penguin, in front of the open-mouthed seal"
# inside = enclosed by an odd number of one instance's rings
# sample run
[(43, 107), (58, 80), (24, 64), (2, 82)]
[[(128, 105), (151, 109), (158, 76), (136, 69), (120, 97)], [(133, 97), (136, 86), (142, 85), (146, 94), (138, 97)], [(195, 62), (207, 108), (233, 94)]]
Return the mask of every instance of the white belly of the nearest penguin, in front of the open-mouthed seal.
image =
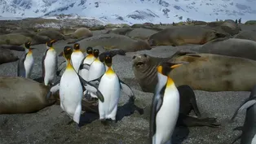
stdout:
[(163, 102), (156, 116), (156, 144), (170, 140), (179, 116), (179, 91), (176, 87), (167, 87)]

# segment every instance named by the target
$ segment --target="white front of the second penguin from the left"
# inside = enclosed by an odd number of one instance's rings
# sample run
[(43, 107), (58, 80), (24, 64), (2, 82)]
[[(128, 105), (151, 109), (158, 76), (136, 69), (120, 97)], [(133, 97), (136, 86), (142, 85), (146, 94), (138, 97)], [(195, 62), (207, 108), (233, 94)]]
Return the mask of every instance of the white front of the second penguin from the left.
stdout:
[(44, 60), (44, 69), (45, 76), (44, 82), (45, 85), (48, 85), (49, 82), (53, 82), (55, 78), (55, 73), (57, 71), (57, 54), (55, 50), (47, 50), (46, 58)]

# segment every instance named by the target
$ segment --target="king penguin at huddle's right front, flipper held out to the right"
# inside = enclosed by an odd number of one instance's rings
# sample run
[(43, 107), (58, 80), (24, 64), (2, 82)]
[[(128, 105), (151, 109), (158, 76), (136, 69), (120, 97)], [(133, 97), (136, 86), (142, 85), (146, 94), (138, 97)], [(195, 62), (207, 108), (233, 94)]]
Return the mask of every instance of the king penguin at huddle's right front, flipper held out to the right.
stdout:
[(133, 100), (135, 96), (130, 89), (130, 86), (126, 85), (119, 79), (116, 72), (112, 67), (112, 56), (106, 54), (104, 63), (108, 68), (104, 75), (99, 79), (99, 91), (104, 96), (104, 102), (99, 101), (99, 120), (104, 122), (105, 120), (116, 120), (117, 104), (120, 98), (120, 90), (124, 90), (125, 94), (129, 95)]

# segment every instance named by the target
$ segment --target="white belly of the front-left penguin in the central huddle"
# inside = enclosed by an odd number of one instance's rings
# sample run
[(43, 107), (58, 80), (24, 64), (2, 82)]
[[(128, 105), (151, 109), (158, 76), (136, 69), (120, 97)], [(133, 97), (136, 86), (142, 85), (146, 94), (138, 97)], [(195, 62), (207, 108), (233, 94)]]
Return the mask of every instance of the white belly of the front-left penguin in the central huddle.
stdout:
[[(60, 107), (68, 116), (74, 116), (77, 107), (81, 107), (82, 96), (82, 85), (77, 73), (66, 70), (60, 79)], [(81, 110), (77, 112), (81, 113)]]

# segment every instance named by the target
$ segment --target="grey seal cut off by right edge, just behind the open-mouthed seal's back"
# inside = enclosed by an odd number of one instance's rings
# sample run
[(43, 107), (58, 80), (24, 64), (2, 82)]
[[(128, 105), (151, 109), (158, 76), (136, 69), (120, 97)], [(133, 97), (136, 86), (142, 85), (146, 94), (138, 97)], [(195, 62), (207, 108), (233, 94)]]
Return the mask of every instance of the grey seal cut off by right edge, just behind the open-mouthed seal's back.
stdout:
[(195, 51), (256, 60), (256, 41), (223, 37), (198, 46)]

